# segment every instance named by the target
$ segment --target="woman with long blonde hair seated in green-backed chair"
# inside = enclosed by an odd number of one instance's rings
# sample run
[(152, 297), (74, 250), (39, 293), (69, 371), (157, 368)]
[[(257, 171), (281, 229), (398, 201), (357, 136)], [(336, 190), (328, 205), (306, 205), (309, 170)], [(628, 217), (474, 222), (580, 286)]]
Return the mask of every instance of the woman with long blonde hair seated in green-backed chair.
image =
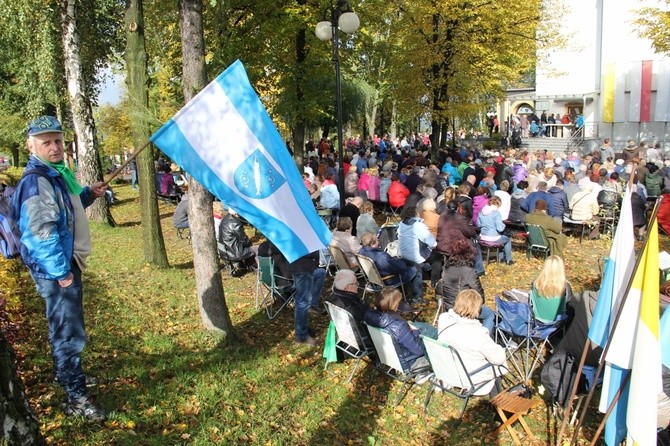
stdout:
[(565, 312), (566, 304), (572, 299), (572, 287), (565, 278), (563, 259), (553, 255), (547, 257), (540, 275), (530, 289), (531, 303), (535, 319), (551, 323)]

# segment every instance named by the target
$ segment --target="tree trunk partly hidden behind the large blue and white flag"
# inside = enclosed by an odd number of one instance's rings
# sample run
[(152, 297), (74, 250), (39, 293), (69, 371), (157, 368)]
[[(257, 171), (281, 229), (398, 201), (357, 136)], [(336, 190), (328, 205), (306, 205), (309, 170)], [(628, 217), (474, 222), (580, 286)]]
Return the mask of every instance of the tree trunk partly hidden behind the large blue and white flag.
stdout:
[[(189, 101), (207, 84), (205, 38), (202, 29), (202, 0), (179, 2), (184, 99)], [(193, 247), (193, 268), (202, 323), (207, 330), (234, 336), (221, 282), (216, 248), (212, 195), (193, 178), (189, 179), (189, 226)]]

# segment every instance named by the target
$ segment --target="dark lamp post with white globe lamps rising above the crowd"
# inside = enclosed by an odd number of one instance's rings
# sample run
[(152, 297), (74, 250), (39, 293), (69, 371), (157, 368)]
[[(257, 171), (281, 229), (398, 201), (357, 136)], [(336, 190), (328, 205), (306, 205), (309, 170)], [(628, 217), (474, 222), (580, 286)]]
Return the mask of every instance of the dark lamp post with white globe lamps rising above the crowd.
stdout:
[(337, 110), (337, 157), (338, 157), (338, 188), (340, 189), (340, 209), (344, 208), (344, 170), (342, 159), (342, 83), (340, 80), (340, 38), (339, 30), (353, 34), (360, 25), (360, 20), (347, 0), (331, 0), (326, 14), (330, 13), (330, 20), (322, 20), (316, 24), (314, 34), (326, 42), (333, 41), (333, 63), (335, 64), (335, 101)]

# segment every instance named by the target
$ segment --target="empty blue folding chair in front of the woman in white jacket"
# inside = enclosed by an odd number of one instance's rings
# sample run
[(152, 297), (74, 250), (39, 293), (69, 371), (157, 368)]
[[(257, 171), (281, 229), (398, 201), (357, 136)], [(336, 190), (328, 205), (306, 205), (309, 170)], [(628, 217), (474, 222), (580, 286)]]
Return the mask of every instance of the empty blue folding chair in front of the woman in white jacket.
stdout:
[[(531, 299), (532, 301), (532, 299)], [(507, 358), (521, 382), (530, 379), (544, 361), (544, 348), (553, 348), (549, 338), (564, 326), (565, 313), (551, 323), (538, 321), (531, 302), (509, 301), (496, 296), (496, 342), (507, 349)]]

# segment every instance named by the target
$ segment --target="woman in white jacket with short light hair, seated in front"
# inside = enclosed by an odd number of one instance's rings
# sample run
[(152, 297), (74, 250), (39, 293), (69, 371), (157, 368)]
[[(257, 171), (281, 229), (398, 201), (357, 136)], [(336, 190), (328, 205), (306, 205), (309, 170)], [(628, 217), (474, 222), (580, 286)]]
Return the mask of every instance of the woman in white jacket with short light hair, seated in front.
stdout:
[[(505, 349), (496, 344), (489, 331), (477, 319), (482, 308), (483, 299), (475, 290), (463, 290), (456, 296), (454, 308), (442, 313), (437, 322), (437, 339), (451, 345), (463, 360), (468, 372), (486, 364), (493, 364), (497, 370), (506, 369)], [(499, 374), (498, 374), (499, 375)], [(486, 367), (472, 376), (472, 382), (484, 385), (476, 395), (497, 393), (494, 388), (494, 371)], [(493, 392), (493, 393), (492, 393)]]

